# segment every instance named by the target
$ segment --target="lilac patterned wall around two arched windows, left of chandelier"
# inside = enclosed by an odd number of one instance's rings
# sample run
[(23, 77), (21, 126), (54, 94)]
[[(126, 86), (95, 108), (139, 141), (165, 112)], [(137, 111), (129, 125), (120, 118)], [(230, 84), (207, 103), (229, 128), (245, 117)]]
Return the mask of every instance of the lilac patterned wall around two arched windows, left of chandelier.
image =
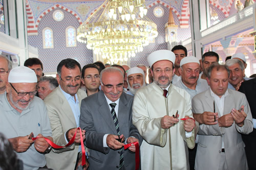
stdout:
[[(74, 15), (62, 11), (65, 14), (62, 21), (57, 22), (53, 19), (53, 10), (41, 19), (38, 35), (28, 37), (29, 45), (38, 48), (38, 56), (44, 65), (44, 72), (56, 72), (58, 63), (66, 58), (77, 59), (81, 67), (93, 62), (92, 51), (87, 49), (86, 44), (77, 43), (77, 47), (66, 47), (65, 29), (69, 26), (78, 28), (79, 22)], [(45, 27), (50, 27), (53, 30), (54, 48), (42, 48), (42, 30)]]

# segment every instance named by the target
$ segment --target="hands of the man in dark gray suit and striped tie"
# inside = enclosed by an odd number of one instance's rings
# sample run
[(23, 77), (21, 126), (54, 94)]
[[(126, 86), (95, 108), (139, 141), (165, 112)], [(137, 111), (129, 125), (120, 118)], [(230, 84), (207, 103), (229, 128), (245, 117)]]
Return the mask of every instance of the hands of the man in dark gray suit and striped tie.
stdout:
[[(120, 141), (118, 141), (120, 138)], [(120, 135), (119, 137), (117, 135), (112, 135), (109, 134), (106, 137), (106, 144), (108, 145), (109, 148), (113, 149), (113, 150), (119, 150), (123, 147), (124, 143), (124, 135)], [(127, 143), (132, 143), (132, 142), (139, 142), (138, 139), (134, 138), (134, 137), (129, 137), (126, 140)], [(135, 145), (134, 143), (132, 143), (131, 147), (129, 147), (129, 150), (132, 152), (136, 151)]]

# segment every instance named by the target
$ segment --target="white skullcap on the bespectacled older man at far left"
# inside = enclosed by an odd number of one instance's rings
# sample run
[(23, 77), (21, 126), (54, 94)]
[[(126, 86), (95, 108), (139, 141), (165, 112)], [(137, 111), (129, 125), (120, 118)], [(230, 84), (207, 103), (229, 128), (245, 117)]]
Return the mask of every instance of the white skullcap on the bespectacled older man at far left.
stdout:
[(37, 83), (35, 71), (25, 66), (11, 69), (8, 77), (9, 83)]

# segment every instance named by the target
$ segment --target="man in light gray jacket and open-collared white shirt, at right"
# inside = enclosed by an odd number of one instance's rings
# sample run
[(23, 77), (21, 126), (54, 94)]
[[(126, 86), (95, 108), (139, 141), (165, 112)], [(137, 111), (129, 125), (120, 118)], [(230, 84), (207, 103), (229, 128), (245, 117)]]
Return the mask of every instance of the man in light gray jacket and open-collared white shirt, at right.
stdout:
[(212, 64), (207, 72), (210, 88), (192, 100), (193, 113), (219, 115), (218, 120), (209, 116), (217, 124), (200, 125), (195, 169), (248, 169), (241, 134), (252, 132), (251, 111), (243, 93), (227, 89), (228, 78), (227, 66)]

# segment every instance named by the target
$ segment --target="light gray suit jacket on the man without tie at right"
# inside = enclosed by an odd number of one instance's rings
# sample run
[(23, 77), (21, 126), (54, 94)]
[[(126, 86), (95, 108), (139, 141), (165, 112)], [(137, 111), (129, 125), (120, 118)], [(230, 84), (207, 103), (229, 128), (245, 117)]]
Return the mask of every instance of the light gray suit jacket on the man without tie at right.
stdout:
[[(228, 95), (225, 97), (224, 114), (230, 113), (232, 108), (238, 110), (244, 105), (244, 112), (247, 113), (244, 126), (239, 128), (235, 123), (228, 128), (219, 127), (219, 124), (200, 125), (195, 169), (219, 169), (222, 140), (228, 169), (248, 169), (244, 150), (245, 144), (241, 134), (249, 134), (252, 131), (251, 111), (243, 93), (231, 89), (227, 90)], [(193, 98), (193, 113), (213, 112), (213, 103), (214, 98), (211, 96), (209, 88)], [(215, 105), (215, 107), (216, 112), (219, 113), (218, 106)]]

